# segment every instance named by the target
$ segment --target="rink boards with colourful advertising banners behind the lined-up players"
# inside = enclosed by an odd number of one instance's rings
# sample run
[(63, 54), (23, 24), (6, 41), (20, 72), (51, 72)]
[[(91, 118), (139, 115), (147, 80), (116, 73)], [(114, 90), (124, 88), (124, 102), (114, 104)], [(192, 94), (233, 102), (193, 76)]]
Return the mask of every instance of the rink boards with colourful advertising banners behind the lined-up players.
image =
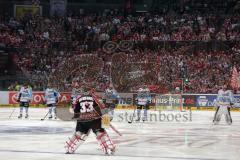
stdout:
[[(102, 95), (102, 93), (98, 93)], [(61, 92), (59, 100), (60, 106), (68, 107), (70, 105), (70, 93)], [(116, 109), (134, 109), (135, 93), (120, 93), (119, 103)], [(214, 110), (213, 101), (216, 99), (216, 94), (152, 94), (150, 102), (151, 110)], [(240, 95), (234, 95), (236, 106), (233, 111), (240, 111)], [(15, 91), (0, 91), (0, 107), (16, 107), (18, 103), (17, 92)], [(33, 92), (31, 107), (46, 107), (44, 105), (44, 92)]]

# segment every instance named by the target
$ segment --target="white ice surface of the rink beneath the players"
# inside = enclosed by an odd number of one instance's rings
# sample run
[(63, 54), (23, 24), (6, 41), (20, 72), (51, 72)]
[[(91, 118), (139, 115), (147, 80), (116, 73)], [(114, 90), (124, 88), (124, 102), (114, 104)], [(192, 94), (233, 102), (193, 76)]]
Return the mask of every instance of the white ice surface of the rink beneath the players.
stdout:
[[(0, 108), (0, 159), (7, 160), (239, 160), (240, 113), (232, 112), (233, 124), (212, 125), (213, 111), (192, 111), (188, 121), (133, 122), (116, 117), (110, 128), (117, 149), (106, 156), (95, 135), (90, 134), (75, 154), (64, 154), (64, 143), (72, 135), (75, 122), (41, 121), (47, 109), (30, 108), (29, 119), (18, 120), (18, 108)], [(116, 116), (133, 111), (116, 111)], [(189, 112), (189, 111), (188, 111)], [(168, 112), (169, 113), (169, 112)], [(190, 112), (189, 112), (190, 113)], [(183, 113), (180, 113), (183, 114)]]

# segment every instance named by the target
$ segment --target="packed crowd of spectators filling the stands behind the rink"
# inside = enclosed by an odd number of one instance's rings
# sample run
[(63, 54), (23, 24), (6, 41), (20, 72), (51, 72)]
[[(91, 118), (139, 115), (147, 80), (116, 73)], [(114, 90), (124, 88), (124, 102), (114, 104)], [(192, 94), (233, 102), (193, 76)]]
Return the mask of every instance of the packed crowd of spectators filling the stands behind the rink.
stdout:
[[(106, 42), (112, 41), (116, 48), (124, 40), (133, 47), (114, 53), (104, 50)], [(235, 46), (190, 52), (194, 42), (212, 40), (232, 41)], [(83, 80), (76, 75), (86, 72), (85, 81), (94, 81), (98, 90), (112, 80), (121, 92), (143, 83), (157, 84), (165, 92), (173, 89), (172, 84), (182, 78), (184, 71), (190, 80), (186, 92), (212, 93), (228, 83), (234, 65), (239, 68), (239, 40), (238, 14), (0, 18), (0, 44), (17, 49), (14, 61), (34, 81), (35, 90), (44, 89), (49, 80), (68, 90), (66, 84), (73, 78)], [(158, 42), (165, 41), (188, 43), (158, 46)]]

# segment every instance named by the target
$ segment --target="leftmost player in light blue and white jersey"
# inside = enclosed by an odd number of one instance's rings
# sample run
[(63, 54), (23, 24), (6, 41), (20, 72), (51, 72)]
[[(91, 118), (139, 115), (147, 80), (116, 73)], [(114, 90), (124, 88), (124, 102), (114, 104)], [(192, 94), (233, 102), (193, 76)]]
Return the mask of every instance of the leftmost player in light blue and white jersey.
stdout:
[(25, 118), (28, 118), (28, 108), (29, 103), (32, 100), (32, 89), (28, 86), (27, 83), (24, 83), (24, 85), (21, 87), (20, 91), (17, 95), (17, 101), (19, 102), (20, 106), (20, 114), (18, 118), (22, 118), (23, 115), (23, 109), (25, 109)]

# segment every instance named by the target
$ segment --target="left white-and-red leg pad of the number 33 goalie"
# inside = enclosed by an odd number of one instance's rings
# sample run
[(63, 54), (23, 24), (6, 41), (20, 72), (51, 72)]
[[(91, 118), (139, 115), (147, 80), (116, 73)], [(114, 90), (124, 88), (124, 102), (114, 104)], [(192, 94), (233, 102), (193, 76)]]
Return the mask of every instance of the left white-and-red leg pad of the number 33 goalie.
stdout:
[[(89, 134), (89, 132), (88, 132)], [(67, 154), (74, 153), (77, 148), (87, 139), (88, 134), (83, 134), (81, 132), (75, 132), (74, 135), (69, 138), (65, 143), (65, 149)]]

